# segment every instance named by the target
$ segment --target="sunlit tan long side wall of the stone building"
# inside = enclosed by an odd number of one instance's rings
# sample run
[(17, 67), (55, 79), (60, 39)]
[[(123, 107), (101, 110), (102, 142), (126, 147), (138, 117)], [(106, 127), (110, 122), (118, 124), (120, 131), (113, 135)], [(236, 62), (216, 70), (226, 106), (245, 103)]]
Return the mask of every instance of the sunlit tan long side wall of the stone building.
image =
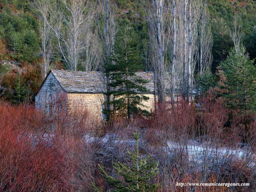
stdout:
[[(154, 94), (144, 94), (149, 97), (148, 101), (143, 102), (146, 109), (150, 111), (154, 106)], [(102, 103), (104, 102), (103, 94), (101, 93), (68, 93), (68, 109), (78, 108), (86, 109), (91, 116), (102, 117)]]

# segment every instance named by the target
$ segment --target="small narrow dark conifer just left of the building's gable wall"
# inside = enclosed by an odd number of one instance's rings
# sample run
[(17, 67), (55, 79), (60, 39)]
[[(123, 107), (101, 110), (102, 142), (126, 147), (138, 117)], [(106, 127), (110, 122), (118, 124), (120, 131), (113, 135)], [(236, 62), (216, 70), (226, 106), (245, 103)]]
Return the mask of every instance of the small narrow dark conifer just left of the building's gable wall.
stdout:
[(15, 80), (14, 95), (11, 98), (14, 103), (22, 103), (26, 98), (27, 87), (20, 79), (20, 73)]

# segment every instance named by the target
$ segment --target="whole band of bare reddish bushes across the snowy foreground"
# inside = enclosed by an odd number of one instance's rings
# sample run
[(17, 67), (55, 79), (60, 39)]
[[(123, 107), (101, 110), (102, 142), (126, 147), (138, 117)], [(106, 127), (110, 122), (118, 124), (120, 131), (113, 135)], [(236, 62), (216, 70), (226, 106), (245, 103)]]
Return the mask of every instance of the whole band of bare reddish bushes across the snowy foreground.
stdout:
[[(142, 133), (140, 154), (159, 161), (159, 191), (255, 191), (255, 115), (237, 115), (222, 100), (201, 98), (196, 106), (182, 100), (174, 108), (158, 105), (149, 119), (103, 124), (84, 105), (68, 110), (66, 104), (57, 100), (49, 113), (0, 105), (0, 191), (90, 192), (91, 182), (108, 190), (97, 164), (117, 177), (111, 162), (131, 163), (126, 152), (134, 148), (135, 129)], [(181, 189), (177, 182), (251, 186)]]

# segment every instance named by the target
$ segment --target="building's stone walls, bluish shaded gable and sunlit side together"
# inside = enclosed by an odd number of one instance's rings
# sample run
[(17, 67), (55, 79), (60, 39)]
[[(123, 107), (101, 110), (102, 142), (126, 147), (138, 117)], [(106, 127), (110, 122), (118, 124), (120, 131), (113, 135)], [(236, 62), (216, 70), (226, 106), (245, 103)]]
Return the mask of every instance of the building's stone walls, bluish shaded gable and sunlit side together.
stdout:
[[(65, 99), (67, 99), (67, 102), (63, 107), (68, 107), (69, 111), (72, 109), (86, 109), (92, 116), (102, 118), (102, 103), (104, 102), (103, 94), (66, 93), (52, 72), (50, 72), (48, 77), (45, 79), (41, 89), (35, 96), (35, 108), (47, 112), (53, 112), (53, 103), (56, 101), (56, 99), (63, 97), (62, 95), (65, 95)], [(148, 93), (144, 95), (150, 99), (146, 102), (143, 102), (146, 107), (142, 108), (150, 111), (154, 106), (154, 94)]]

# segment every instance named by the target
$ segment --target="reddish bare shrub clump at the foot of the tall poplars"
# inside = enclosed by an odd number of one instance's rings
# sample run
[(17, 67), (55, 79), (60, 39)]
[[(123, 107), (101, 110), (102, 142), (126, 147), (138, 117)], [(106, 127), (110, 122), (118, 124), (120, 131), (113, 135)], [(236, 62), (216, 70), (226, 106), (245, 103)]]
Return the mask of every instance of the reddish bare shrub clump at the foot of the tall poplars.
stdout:
[(195, 135), (197, 127), (195, 106), (182, 99), (174, 108), (171, 108), (168, 103), (158, 104), (157, 109), (148, 120), (148, 127), (155, 131), (155, 134), (152, 134), (152, 131), (148, 132), (148, 140), (158, 138), (158, 141), (161, 142), (163, 138), (174, 140), (191, 138)]

